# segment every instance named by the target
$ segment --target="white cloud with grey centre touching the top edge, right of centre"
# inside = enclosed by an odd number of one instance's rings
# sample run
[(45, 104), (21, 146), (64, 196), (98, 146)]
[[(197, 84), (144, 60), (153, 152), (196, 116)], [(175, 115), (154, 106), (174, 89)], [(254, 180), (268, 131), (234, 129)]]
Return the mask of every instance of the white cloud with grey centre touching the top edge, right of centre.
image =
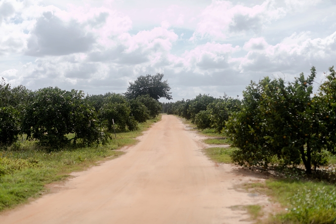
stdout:
[(253, 7), (234, 5), (231, 1), (213, 0), (202, 12), (201, 21), (191, 40), (195, 38), (225, 40), (237, 33), (249, 31), (258, 33), (271, 21), (284, 15), (284, 9), (276, 7), (273, 0), (266, 0)]

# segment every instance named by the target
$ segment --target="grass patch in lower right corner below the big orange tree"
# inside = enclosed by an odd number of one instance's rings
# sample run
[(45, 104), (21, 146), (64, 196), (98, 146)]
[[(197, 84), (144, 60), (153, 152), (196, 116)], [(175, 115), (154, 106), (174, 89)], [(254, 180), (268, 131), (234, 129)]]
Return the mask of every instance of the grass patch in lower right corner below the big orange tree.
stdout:
[(268, 179), (247, 186), (264, 192), (284, 207), (267, 224), (336, 224), (334, 185), (312, 180)]

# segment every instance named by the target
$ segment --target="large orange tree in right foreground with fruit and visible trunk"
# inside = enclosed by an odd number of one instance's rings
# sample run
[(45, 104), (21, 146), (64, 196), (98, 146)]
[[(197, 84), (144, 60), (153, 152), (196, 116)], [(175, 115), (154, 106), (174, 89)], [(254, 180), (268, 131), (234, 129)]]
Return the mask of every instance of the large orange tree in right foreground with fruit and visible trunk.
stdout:
[(316, 168), (325, 162), (324, 149), (333, 145), (335, 139), (326, 139), (325, 132), (331, 128), (326, 128), (323, 122), (331, 116), (324, 115), (321, 119), (321, 110), (327, 114), (330, 108), (327, 109), (321, 97), (312, 96), (315, 76), (313, 67), (307, 78), (301, 73), (287, 85), (282, 79), (271, 81), (266, 77), (247, 87), (243, 110), (227, 123), (228, 136), (240, 148), (233, 155), (234, 161), (265, 167), (274, 157), (284, 165), (302, 161), (307, 174), (312, 172), (312, 165)]

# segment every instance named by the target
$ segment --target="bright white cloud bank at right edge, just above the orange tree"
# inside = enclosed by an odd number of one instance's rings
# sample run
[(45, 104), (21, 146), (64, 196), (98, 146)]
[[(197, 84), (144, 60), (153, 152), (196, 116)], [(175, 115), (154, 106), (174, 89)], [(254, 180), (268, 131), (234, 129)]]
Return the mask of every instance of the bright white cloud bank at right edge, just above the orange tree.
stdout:
[[(259, 44), (261, 43), (261, 44)], [(262, 45), (263, 49), (253, 48)], [(311, 66), (328, 68), (335, 63), (336, 32), (326, 38), (310, 39), (309, 33), (294, 33), (281, 43), (268, 45), (264, 39), (251, 39), (245, 44), (249, 52), (242, 59), (244, 71), (306, 71)]]

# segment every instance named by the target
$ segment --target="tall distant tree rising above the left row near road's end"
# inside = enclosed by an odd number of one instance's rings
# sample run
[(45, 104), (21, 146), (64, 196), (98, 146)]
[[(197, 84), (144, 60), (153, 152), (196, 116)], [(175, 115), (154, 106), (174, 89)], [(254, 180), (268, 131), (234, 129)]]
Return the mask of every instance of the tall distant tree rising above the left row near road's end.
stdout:
[(129, 99), (136, 98), (140, 95), (149, 95), (153, 99), (160, 98), (172, 99), (168, 81), (162, 81), (164, 74), (157, 73), (154, 76), (139, 76), (134, 83), (129, 83), (129, 87), (125, 93)]

